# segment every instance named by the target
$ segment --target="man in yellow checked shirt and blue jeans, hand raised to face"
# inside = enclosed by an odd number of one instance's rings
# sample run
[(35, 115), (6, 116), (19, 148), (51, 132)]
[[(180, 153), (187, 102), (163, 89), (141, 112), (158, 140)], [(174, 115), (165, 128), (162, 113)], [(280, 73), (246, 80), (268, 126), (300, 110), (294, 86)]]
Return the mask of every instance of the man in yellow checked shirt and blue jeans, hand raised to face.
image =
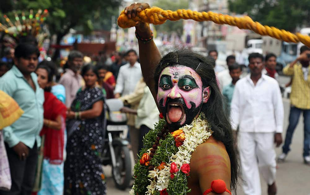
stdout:
[(283, 162), (290, 151), (294, 130), (298, 124), (300, 113), (304, 118), (304, 163), (310, 165), (310, 48), (302, 46), (300, 56), (292, 63), (283, 68), (283, 73), (292, 76), (292, 92), (290, 94), (291, 108), (289, 126), (286, 131), (285, 142), (282, 147), (283, 153), (278, 161)]

